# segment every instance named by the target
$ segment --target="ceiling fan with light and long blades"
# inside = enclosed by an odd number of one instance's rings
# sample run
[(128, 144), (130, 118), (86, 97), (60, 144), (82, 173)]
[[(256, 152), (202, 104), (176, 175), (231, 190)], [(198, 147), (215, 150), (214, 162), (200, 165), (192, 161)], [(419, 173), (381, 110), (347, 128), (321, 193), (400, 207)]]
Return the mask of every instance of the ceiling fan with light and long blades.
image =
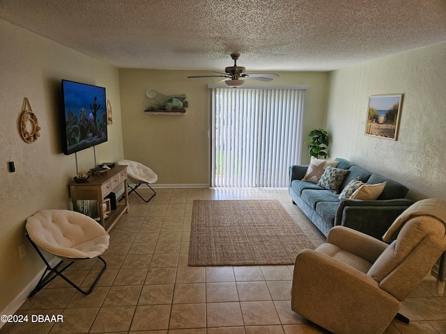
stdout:
[(233, 66), (226, 67), (224, 72), (214, 72), (220, 75), (193, 75), (188, 78), (225, 78), (222, 81), (229, 87), (240, 87), (245, 84), (246, 79), (250, 80), (258, 80), (258, 81), (271, 81), (272, 78), (279, 77), (278, 74), (275, 73), (253, 73), (246, 74), (245, 67), (237, 66), (237, 59), (240, 57), (240, 54), (231, 54), (231, 58), (234, 61)]

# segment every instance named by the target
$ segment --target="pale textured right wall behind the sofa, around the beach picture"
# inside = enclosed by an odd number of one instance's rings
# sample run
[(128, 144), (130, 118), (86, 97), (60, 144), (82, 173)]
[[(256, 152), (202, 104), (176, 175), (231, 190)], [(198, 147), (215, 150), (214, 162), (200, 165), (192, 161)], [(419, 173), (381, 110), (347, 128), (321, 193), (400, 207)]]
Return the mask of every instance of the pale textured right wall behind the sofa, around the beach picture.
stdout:
[[(413, 199), (446, 198), (446, 43), (337, 70), (326, 127), (331, 157), (397, 180)], [(397, 141), (364, 136), (369, 95), (403, 93)]]

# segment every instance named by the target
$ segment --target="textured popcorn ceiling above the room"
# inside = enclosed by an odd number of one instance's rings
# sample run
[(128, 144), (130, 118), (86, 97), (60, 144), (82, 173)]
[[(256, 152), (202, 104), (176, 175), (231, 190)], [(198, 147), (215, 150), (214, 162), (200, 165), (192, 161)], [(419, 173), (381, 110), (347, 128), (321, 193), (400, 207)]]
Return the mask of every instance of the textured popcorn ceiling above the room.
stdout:
[(0, 19), (117, 67), (335, 70), (446, 41), (446, 0), (0, 0)]

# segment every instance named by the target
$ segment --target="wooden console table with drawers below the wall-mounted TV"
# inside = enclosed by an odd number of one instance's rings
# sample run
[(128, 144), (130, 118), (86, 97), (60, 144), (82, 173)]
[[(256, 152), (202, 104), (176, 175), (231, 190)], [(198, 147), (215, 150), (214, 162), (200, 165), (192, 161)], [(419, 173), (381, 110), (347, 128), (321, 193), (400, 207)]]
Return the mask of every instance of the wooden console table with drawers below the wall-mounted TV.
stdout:
[[(120, 184), (124, 184), (125, 204), (119, 205), (116, 198), (116, 209), (109, 212), (105, 218), (102, 203), (105, 202), (105, 196), (112, 192)], [(121, 216), (128, 212), (128, 186), (127, 186), (127, 166), (117, 165), (110, 168), (107, 173), (102, 175), (93, 175), (87, 182), (78, 183), (72, 181), (70, 186), (71, 200), (97, 200), (100, 224), (107, 230), (112, 230)]]

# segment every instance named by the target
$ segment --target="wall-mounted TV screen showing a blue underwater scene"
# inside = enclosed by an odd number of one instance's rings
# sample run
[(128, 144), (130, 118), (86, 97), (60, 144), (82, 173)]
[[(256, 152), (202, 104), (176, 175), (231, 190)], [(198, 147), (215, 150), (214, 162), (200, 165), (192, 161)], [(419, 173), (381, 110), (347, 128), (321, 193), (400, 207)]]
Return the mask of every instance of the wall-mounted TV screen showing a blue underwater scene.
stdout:
[(62, 80), (63, 152), (72, 154), (107, 141), (105, 88)]

